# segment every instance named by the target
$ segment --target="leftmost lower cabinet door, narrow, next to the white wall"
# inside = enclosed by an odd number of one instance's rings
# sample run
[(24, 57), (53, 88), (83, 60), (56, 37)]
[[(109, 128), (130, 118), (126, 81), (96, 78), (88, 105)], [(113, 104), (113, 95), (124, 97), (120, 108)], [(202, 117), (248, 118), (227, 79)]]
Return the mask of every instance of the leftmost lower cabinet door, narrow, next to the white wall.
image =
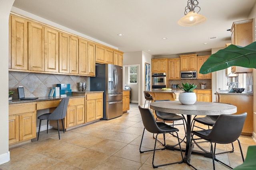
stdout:
[(9, 116), (9, 145), (19, 141), (19, 116)]

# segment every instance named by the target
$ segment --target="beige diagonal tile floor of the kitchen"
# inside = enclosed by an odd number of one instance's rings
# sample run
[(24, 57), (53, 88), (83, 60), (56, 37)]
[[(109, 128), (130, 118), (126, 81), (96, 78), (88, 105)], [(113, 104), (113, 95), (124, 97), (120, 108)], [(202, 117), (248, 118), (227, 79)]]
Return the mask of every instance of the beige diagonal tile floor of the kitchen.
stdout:
[[(61, 133), (50, 129), (40, 133), (39, 141), (10, 149), (11, 160), (0, 165), (2, 170), (148, 170), (152, 168), (152, 152), (140, 154), (139, 146), (143, 132), (143, 124), (138, 104), (131, 104), (130, 110), (121, 117), (108, 121), (98, 121), (84, 127)], [(180, 137), (184, 137), (182, 125)], [(160, 139), (163, 139), (159, 135)], [(154, 147), (152, 134), (146, 132), (142, 149)], [(247, 147), (256, 145), (251, 137), (241, 136), (240, 142), (244, 156)], [(176, 138), (166, 136), (166, 143), (173, 144)], [(159, 143), (157, 144), (159, 146)], [(202, 143), (209, 149), (208, 143)], [(182, 143), (182, 147), (185, 143)], [(147, 147), (147, 148), (146, 148)], [(218, 151), (231, 149), (231, 145), (217, 145)], [(232, 167), (242, 163), (237, 142), (235, 151), (217, 155), (217, 158)], [(194, 147), (196, 149), (196, 147)], [(171, 150), (156, 151), (155, 163), (164, 164), (168, 161), (180, 160), (180, 152)], [(192, 154), (190, 163), (198, 170), (210, 170), (212, 160)], [(191, 170), (185, 163), (162, 166), (158, 169)], [(216, 162), (216, 169), (226, 170), (225, 166)]]

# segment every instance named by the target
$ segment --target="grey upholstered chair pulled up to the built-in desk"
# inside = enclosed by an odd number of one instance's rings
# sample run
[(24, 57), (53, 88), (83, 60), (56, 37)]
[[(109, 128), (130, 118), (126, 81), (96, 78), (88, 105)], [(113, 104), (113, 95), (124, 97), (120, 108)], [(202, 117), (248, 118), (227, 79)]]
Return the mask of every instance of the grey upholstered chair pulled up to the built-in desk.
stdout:
[(63, 133), (65, 133), (64, 132), (63, 119), (64, 119), (64, 117), (66, 117), (68, 101), (69, 101), (69, 97), (63, 98), (60, 101), (60, 104), (56, 107), (56, 109), (52, 113), (45, 113), (45, 114), (42, 114), (42, 115), (38, 116), (38, 119), (40, 119), (40, 122), (39, 122), (39, 129), (38, 129), (37, 140), (39, 138), (39, 133), (40, 133), (40, 127), (41, 127), (41, 121), (42, 120), (47, 120), (47, 133), (48, 133), (49, 120), (56, 120), (57, 121), (59, 139), (60, 139), (59, 120), (61, 120), (62, 121)]

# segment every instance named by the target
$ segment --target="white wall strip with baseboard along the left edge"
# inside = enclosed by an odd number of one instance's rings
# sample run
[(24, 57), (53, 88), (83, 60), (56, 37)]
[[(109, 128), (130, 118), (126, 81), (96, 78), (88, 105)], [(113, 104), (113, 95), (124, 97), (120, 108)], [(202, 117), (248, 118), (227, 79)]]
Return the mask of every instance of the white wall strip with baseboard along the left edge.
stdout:
[(9, 107), (8, 107), (8, 54), (9, 54), (9, 14), (14, 0), (0, 0), (0, 164), (10, 160), (9, 152)]

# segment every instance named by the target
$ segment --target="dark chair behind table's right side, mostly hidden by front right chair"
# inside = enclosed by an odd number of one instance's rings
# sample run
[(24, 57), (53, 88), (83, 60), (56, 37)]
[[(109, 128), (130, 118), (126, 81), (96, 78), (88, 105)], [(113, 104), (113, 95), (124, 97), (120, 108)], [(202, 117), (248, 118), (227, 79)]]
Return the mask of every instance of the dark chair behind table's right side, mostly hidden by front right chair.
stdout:
[[(225, 104), (228, 104), (228, 103), (225, 103)], [(203, 124), (203, 125), (206, 125), (206, 126), (208, 126), (208, 129), (210, 129), (210, 127), (214, 126), (214, 124), (216, 123), (216, 120), (218, 119), (219, 116), (220, 115), (207, 115), (207, 116), (204, 116), (204, 117), (196, 117), (195, 116), (193, 118), (193, 120), (192, 120), (192, 122), (194, 122), (193, 125), (192, 125), (192, 131), (193, 131), (194, 127), (197, 127), (199, 129), (202, 129), (202, 130), (206, 130), (206, 129), (200, 127), (200, 126), (195, 125), (196, 122), (198, 122), (200, 124)], [(196, 145), (197, 145), (197, 143), (196, 143)], [(218, 153), (215, 153), (215, 154), (223, 154), (223, 153), (227, 153), (227, 152), (234, 152), (234, 145), (233, 145), (233, 143), (231, 143), (231, 145), (232, 145), (232, 149), (231, 150), (225, 151), (225, 152), (218, 152)]]

